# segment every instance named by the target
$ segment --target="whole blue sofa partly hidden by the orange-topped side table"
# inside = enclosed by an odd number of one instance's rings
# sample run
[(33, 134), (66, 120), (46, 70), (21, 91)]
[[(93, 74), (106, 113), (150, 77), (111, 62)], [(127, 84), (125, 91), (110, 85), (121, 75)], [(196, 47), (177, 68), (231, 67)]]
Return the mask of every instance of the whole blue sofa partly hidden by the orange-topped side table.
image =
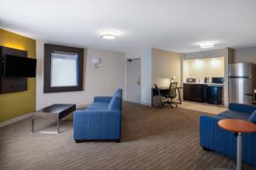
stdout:
[[(203, 149), (236, 158), (236, 134), (218, 127), (218, 121), (226, 118), (256, 123), (256, 106), (230, 104), (229, 110), (217, 116), (200, 117), (200, 144)], [(242, 140), (243, 161), (256, 166), (256, 133), (243, 133)]]

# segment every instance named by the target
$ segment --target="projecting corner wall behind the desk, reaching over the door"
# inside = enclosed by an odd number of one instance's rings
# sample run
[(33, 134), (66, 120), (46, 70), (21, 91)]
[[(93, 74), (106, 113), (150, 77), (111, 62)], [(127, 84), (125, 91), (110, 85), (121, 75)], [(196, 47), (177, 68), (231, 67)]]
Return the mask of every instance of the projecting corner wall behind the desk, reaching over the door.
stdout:
[(141, 59), (141, 104), (143, 105), (151, 105), (151, 88), (154, 80), (175, 76), (177, 77), (175, 82), (178, 84), (181, 82), (181, 54), (157, 48), (145, 48), (137, 53), (126, 54), (126, 58)]

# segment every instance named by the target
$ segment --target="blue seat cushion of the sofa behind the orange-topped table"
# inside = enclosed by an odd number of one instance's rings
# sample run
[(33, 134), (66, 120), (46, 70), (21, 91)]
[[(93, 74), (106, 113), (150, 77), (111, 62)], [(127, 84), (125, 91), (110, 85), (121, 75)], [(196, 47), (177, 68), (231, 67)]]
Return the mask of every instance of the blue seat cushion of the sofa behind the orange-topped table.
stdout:
[(224, 116), (225, 118), (229, 119), (241, 119), (247, 121), (251, 114), (246, 112), (227, 110), (218, 114), (218, 116)]

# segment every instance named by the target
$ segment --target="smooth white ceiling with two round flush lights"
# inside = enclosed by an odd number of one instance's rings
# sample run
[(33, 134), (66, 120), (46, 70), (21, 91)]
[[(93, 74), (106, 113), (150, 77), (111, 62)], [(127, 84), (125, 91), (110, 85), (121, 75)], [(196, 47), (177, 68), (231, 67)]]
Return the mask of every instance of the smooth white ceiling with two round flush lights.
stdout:
[[(121, 52), (256, 45), (255, 0), (1, 0), (0, 27), (48, 42)], [(119, 32), (104, 40), (100, 32)]]

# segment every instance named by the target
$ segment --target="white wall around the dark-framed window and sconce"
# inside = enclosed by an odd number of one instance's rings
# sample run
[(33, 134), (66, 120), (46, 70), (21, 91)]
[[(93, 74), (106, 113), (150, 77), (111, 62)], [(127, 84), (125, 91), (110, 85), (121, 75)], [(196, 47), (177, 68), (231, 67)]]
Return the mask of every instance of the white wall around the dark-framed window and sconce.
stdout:
[[(91, 58), (102, 58), (94, 68)], [(90, 104), (96, 95), (112, 95), (123, 88), (125, 96), (125, 54), (84, 48), (84, 91), (44, 94), (44, 42), (37, 41), (37, 110), (53, 104)]]

